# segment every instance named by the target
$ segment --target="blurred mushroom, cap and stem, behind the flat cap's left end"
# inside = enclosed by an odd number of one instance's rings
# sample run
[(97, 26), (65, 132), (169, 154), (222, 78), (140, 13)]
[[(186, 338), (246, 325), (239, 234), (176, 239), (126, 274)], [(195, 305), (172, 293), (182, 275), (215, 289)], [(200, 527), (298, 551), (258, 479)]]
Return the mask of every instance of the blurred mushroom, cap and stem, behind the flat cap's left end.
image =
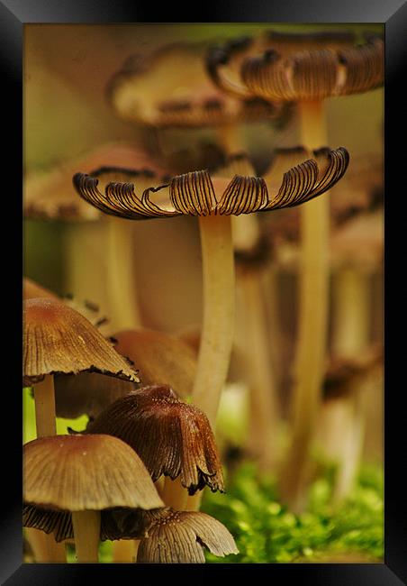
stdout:
[[(28, 174), (24, 179), (23, 213), (32, 221), (64, 222), (64, 238), (68, 241), (68, 282), (76, 297), (84, 293), (97, 298), (110, 316), (113, 329), (140, 325), (140, 309), (134, 272), (132, 224), (117, 222), (86, 206), (72, 187), (72, 175), (78, 168), (87, 171), (110, 164), (120, 165), (125, 179), (126, 165), (137, 169), (138, 182), (163, 177), (167, 171), (140, 148), (112, 142), (90, 151), (77, 160), (61, 163), (42, 173)], [(113, 172), (113, 171), (112, 171)], [(148, 187), (148, 185), (145, 185)], [(89, 241), (89, 235), (91, 240)], [(84, 248), (95, 256), (94, 262), (77, 262)], [(102, 270), (106, 273), (102, 276)]]

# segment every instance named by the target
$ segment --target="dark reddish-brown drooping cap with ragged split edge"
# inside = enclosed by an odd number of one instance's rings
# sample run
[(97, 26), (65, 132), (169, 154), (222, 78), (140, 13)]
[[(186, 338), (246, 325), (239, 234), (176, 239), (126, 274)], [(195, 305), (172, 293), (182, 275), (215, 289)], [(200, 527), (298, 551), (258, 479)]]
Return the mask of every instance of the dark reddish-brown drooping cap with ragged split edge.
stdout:
[(178, 476), (189, 494), (205, 485), (223, 491), (213, 431), (201, 409), (180, 401), (167, 385), (118, 398), (89, 423), (86, 433), (110, 434), (140, 455), (152, 480)]

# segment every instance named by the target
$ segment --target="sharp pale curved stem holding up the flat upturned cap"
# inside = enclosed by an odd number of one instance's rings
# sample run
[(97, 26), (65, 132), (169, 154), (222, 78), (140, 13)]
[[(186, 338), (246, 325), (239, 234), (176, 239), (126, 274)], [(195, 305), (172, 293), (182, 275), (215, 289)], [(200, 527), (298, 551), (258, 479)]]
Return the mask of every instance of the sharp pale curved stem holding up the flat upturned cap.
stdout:
[(215, 427), (231, 359), (235, 273), (231, 216), (199, 217), (203, 258), (203, 328), (192, 402)]

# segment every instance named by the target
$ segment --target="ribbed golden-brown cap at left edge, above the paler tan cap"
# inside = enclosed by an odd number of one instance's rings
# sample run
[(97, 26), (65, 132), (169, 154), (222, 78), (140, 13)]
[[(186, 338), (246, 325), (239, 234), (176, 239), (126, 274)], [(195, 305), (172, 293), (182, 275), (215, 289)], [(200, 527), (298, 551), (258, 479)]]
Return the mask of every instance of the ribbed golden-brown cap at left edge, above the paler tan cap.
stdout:
[(101, 372), (138, 382), (137, 372), (84, 316), (62, 302), (23, 302), (23, 386), (46, 374)]

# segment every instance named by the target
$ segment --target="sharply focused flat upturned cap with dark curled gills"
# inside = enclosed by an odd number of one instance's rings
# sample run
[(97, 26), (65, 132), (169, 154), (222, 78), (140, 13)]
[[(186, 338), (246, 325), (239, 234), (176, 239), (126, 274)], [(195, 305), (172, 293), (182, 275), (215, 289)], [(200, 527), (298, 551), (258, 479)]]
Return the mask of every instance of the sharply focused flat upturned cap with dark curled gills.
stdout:
[(240, 215), (298, 206), (332, 188), (343, 177), (349, 155), (343, 147), (312, 151), (303, 147), (281, 151), (264, 177), (213, 176), (207, 170), (173, 177), (139, 194), (132, 183), (111, 182), (98, 189), (99, 177), (77, 173), (80, 197), (105, 214), (133, 220), (178, 215)]

